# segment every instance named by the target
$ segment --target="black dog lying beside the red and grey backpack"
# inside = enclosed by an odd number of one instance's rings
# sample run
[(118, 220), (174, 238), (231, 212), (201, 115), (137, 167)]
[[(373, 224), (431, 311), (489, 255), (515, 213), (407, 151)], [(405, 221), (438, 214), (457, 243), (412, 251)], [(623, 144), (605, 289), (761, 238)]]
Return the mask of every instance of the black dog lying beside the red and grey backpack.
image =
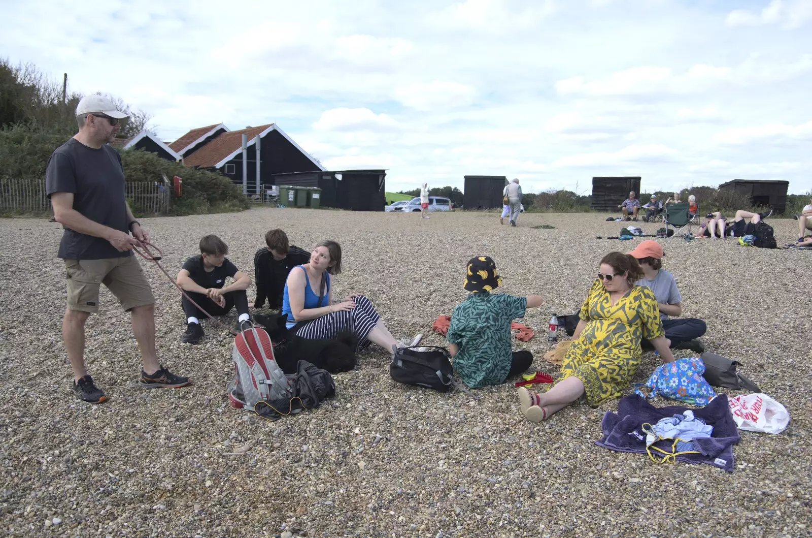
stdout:
[(286, 374), (295, 374), (300, 360), (331, 374), (355, 368), (358, 337), (352, 331), (341, 331), (335, 338), (302, 338), (287, 328), (287, 315), (257, 314), (254, 319), (274, 343), (274, 357)]

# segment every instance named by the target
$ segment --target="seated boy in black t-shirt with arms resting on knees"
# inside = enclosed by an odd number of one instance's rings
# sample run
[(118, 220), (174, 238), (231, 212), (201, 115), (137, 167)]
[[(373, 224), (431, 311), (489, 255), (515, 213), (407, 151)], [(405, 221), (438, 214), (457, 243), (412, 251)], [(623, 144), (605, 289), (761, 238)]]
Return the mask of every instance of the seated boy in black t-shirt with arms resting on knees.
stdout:
[[(186, 295), (192, 297), (192, 301), (197, 302), (210, 315), (225, 315), (236, 306), (239, 317), (235, 330), (241, 331), (253, 327), (248, 315), (248, 295), (245, 293), (251, 285), (251, 277), (238, 271), (231, 260), (226, 258), (226, 254), (228, 246), (222, 239), (218, 236), (205, 236), (201, 239), (201, 254), (184, 262), (184, 267), (178, 273), (177, 283)], [(234, 282), (226, 286), (227, 276), (231, 276)], [(186, 295), (182, 294), (180, 299), (187, 323), (182, 341), (185, 344), (197, 344), (203, 336), (200, 319), (207, 316)]]

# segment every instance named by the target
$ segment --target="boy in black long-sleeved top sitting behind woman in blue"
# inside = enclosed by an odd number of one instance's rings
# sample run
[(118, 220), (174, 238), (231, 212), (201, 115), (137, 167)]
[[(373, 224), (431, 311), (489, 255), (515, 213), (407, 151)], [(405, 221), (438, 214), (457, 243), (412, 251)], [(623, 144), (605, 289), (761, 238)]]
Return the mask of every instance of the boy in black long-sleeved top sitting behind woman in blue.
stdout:
[(252, 308), (261, 308), (268, 299), (270, 310), (282, 308), (282, 297), (287, 276), (293, 267), (310, 261), (310, 253), (287, 242), (287, 235), (279, 228), (265, 234), (267, 246), (254, 254), (254, 282), (257, 284), (257, 298), (248, 303)]

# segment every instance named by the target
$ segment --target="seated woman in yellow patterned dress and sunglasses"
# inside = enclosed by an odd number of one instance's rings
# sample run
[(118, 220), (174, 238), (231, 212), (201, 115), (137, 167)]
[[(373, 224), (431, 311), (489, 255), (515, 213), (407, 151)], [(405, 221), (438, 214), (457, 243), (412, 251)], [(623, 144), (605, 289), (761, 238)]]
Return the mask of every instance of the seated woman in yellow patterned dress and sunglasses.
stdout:
[(640, 365), (641, 338), (651, 341), (663, 362), (674, 360), (654, 293), (634, 284), (642, 274), (637, 259), (628, 254), (612, 252), (601, 260), (561, 365), (563, 377), (546, 393), (519, 389), (527, 419), (541, 422), (581, 396), (590, 406), (619, 397)]

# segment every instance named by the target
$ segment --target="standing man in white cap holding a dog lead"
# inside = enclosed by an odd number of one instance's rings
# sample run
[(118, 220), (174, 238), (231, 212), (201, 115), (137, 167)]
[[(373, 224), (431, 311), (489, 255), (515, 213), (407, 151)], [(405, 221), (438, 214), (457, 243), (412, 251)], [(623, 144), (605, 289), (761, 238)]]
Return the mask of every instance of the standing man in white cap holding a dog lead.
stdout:
[(65, 260), (67, 272), (62, 335), (73, 370), (73, 393), (90, 403), (107, 400), (84, 363), (84, 323), (98, 311), (99, 284), (105, 284), (132, 316), (132, 332), (144, 362), (139, 384), (144, 388), (189, 384), (188, 377), (175, 375), (158, 362), (155, 299), (132, 255), (132, 248), (149, 241), (149, 235), (127, 206), (121, 157), (108, 144), (127, 118), (109, 98), (82, 98), (76, 106), (79, 132), (54, 150), (45, 170), (54, 217), (65, 229), (58, 257)]

